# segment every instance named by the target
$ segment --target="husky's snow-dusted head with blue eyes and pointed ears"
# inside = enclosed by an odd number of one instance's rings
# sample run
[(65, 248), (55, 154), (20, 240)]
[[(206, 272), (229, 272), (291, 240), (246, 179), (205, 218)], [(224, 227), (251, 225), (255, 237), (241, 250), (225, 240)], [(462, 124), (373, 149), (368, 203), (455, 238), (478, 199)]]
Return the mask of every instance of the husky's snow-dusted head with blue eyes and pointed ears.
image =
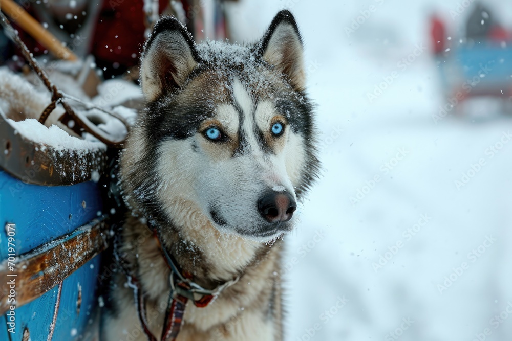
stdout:
[(248, 47), (196, 45), (176, 18), (161, 18), (141, 63), (148, 104), (121, 158), (126, 201), (178, 226), (180, 203), (257, 241), (290, 231), (318, 171), (303, 59), (289, 11)]

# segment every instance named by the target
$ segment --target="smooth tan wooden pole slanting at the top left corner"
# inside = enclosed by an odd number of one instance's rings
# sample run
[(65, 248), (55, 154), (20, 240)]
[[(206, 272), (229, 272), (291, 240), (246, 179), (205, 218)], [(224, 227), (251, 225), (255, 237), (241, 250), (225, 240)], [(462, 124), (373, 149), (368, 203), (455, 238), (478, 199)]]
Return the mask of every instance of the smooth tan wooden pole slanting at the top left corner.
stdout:
[(73, 52), (63, 46), (53, 34), (42, 27), (37, 20), (13, 0), (0, 0), (0, 10), (57, 58), (71, 61), (78, 60)]

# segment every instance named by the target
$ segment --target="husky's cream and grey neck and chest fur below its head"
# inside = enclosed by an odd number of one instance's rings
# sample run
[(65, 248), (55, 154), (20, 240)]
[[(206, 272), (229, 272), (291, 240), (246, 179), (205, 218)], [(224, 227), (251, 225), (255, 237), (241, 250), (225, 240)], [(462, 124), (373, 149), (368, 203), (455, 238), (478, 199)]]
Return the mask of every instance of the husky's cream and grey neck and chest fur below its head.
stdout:
[[(173, 234), (175, 247), (170, 250), (183, 270), (202, 279), (198, 284), (206, 288), (214, 288), (218, 280), (231, 279), (242, 268), (245, 270), (239, 282), (225, 289), (207, 307), (187, 303), (177, 340), (281, 340), (280, 241), (270, 247), (226, 237), (201, 218), (199, 212), (195, 214), (198, 220), (193, 221), (205, 224), (187, 226), (183, 229), (186, 233)], [(170, 270), (153, 233), (138, 219), (130, 217), (126, 221), (122, 240), (119, 253), (131, 264), (130, 270), (147, 295), (148, 327), (154, 335), (160, 335), (170, 291)], [(131, 335), (134, 340), (145, 340), (128, 279), (119, 272), (114, 282), (111, 318), (124, 321), (125, 327), (105, 330), (105, 339), (121, 340)]]

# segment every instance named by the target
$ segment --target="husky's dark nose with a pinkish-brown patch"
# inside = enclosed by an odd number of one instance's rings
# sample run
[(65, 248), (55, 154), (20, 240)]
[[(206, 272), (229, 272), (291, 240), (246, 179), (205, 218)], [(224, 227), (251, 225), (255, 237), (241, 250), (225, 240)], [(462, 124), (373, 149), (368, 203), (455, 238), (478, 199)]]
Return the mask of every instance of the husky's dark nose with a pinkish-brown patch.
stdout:
[(290, 193), (269, 192), (258, 200), (258, 209), (268, 222), (288, 221), (297, 209)]

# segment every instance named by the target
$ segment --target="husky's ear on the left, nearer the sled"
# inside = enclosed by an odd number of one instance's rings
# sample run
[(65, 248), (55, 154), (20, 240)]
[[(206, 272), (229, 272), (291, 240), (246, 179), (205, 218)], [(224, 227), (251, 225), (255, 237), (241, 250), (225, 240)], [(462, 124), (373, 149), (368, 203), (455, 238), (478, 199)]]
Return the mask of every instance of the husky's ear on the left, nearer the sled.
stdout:
[(162, 17), (144, 44), (140, 68), (142, 93), (153, 101), (183, 85), (199, 63), (194, 38), (175, 17)]

